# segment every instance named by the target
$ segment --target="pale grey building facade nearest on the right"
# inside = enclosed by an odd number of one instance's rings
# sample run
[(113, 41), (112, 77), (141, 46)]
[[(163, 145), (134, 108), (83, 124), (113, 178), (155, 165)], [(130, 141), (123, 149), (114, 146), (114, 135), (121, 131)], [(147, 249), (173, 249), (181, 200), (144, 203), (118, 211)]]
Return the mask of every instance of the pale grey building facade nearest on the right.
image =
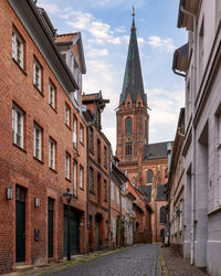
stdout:
[(220, 1), (180, 1), (189, 53), (185, 68), (180, 51), (175, 66), (186, 77), (183, 255), (210, 275), (221, 275), (220, 11)]

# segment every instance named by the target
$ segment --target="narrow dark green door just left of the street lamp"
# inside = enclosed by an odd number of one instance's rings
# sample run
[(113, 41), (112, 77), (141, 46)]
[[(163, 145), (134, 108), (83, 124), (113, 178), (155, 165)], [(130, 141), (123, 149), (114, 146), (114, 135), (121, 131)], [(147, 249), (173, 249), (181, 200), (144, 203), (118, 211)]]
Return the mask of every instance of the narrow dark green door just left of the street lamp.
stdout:
[(48, 199), (48, 256), (53, 257), (53, 204), (52, 199)]

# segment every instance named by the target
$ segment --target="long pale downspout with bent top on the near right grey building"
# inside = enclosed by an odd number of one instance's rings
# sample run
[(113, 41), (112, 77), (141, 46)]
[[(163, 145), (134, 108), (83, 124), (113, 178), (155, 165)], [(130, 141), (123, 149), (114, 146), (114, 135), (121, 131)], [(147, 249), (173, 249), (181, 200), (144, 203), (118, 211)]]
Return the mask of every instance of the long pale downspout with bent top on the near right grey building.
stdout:
[[(185, 10), (183, 6), (180, 7), (181, 12), (192, 17), (193, 19), (193, 93), (197, 93), (197, 17), (194, 13)], [(192, 95), (193, 99), (193, 95)], [(192, 117), (194, 118), (194, 104), (192, 100)], [(192, 171), (191, 171), (191, 255), (190, 255), (190, 263), (191, 265), (194, 264), (194, 223), (196, 223), (196, 129), (192, 125), (192, 147), (193, 147), (193, 157), (192, 157)]]

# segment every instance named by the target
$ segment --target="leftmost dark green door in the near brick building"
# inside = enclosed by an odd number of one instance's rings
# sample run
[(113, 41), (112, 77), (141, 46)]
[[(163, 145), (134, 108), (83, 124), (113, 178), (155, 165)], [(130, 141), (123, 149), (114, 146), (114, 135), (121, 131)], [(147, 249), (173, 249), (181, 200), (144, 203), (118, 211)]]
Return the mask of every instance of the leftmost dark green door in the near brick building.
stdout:
[(15, 259), (25, 261), (25, 189), (17, 187), (15, 203)]

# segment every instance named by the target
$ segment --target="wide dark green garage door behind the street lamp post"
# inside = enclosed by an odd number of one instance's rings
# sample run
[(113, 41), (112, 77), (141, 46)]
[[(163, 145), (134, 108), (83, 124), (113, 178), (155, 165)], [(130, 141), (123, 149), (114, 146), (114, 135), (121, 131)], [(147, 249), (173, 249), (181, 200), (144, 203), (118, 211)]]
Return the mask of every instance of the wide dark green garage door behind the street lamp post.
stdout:
[[(80, 213), (70, 208), (71, 255), (80, 253)], [(64, 206), (64, 256), (67, 255), (67, 208)]]

